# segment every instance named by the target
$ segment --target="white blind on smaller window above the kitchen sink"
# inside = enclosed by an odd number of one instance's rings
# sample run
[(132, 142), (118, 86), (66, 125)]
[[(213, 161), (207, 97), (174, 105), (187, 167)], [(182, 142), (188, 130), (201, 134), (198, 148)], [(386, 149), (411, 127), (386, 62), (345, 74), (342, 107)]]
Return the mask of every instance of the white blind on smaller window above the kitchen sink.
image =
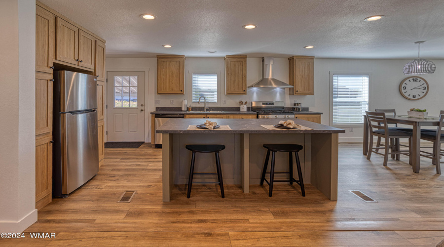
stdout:
[(193, 73), (192, 102), (197, 103), (204, 96), (207, 103), (218, 103), (218, 74)]

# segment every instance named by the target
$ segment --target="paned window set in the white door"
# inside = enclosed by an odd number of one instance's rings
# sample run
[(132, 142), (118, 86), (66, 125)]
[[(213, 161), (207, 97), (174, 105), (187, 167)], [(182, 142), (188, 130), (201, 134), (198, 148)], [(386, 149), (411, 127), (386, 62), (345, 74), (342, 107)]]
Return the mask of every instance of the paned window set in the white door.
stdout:
[(137, 107), (137, 76), (114, 77), (114, 108)]

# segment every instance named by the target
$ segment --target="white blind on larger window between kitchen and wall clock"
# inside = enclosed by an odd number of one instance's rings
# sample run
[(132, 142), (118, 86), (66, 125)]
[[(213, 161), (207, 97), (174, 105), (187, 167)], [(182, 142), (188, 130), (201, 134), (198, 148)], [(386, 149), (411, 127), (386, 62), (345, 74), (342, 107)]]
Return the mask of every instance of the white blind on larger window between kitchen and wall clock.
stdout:
[(362, 124), (369, 109), (369, 75), (333, 75), (333, 124)]

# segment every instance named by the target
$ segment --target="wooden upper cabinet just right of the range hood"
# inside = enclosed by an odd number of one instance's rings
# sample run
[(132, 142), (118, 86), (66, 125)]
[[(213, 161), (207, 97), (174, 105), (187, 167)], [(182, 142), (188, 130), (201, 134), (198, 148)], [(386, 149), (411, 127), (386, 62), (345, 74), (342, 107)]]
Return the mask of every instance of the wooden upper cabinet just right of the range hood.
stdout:
[(314, 57), (293, 56), (288, 58), (290, 94), (314, 94)]

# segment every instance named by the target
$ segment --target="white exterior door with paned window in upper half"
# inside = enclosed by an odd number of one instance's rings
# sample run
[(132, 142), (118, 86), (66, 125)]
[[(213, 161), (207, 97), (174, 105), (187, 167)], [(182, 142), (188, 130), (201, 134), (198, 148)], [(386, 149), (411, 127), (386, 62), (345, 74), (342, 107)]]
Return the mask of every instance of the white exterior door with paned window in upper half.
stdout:
[(145, 141), (145, 72), (107, 74), (108, 141)]

